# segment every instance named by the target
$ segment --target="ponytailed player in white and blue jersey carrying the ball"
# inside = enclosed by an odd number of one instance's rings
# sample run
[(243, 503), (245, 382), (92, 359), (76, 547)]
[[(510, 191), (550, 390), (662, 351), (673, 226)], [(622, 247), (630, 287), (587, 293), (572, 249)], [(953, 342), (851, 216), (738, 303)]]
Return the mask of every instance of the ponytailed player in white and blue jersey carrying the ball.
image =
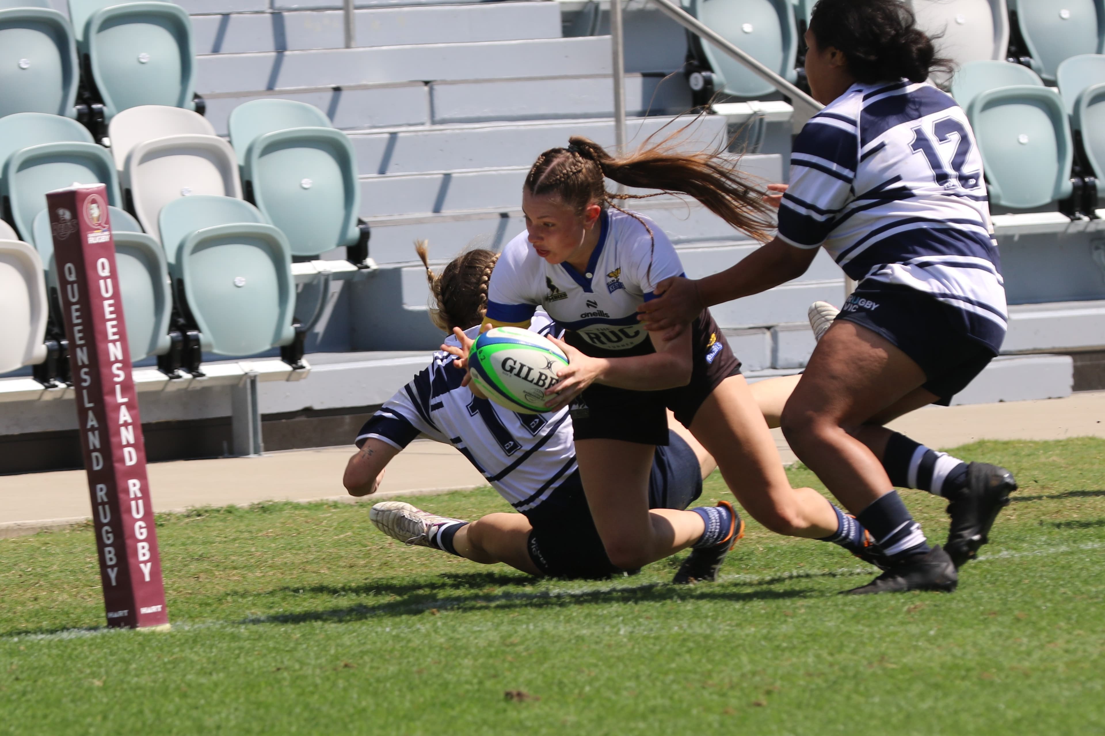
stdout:
[[(526, 327), (538, 307), (566, 330), (569, 365), (550, 388), (550, 409), (570, 406), (576, 459), (594, 526), (611, 563), (642, 567), (687, 546), (724, 551), (738, 521), (729, 504), (650, 510), (654, 449), (666, 445), (665, 409), (715, 458), (727, 486), (780, 534), (834, 542), (875, 562), (853, 518), (809, 488), (793, 489), (764, 416), (720, 329), (699, 310), (692, 330), (648, 332), (636, 309), (662, 279), (680, 276), (675, 249), (642, 215), (612, 206), (604, 179), (687, 194), (757, 236), (769, 226), (762, 193), (711, 153), (653, 147), (612, 158), (586, 138), (545, 151), (523, 186), (526, 232), (503, 249), (491, 276), (485, 323)], [(448, 348), (464, 365), (472, 340)]]

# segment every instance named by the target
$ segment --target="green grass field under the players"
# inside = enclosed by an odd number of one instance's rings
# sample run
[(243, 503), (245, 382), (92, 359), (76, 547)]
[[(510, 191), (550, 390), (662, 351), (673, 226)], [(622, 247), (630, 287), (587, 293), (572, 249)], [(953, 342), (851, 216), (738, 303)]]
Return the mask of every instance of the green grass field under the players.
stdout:
[[(1105, 440), (956, 452), (1021, 490), (953, 595), (838, 596), (876, 570), (755, 523), (675, 587), (680, 558), (533, 580), (367, 503), (264, 504), (159, 518), (173, 629), (108, 631), (91, 526), (0, 541), (0, 733), (1105, 733)], [(904, 497), (943, 541), (940, 500)]]

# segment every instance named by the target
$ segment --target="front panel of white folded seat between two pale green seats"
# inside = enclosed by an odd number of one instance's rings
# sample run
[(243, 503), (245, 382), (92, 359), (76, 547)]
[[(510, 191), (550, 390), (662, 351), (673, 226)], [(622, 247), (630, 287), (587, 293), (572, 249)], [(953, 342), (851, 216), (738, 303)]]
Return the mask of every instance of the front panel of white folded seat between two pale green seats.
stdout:
[(138, 143), (127, 154), (123, 186), (143, 230), (159, 238), (158, 217), (167, 203), (197, 194), (242, 196), (234, 150), (222, 138), (204, 135)]

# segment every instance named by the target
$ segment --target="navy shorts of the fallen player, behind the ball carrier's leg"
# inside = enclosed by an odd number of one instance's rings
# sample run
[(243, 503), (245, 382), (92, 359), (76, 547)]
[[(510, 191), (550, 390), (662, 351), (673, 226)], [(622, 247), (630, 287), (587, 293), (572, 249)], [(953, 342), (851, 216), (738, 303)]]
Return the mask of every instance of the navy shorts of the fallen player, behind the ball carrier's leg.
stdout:
[[(699, 495), (698, 458), (682, 437), (672, 433), (667, 446), (657, 447), (652, 461), (649, 508), (683, 510)], [(578, 470), (540, 505), (525, 514), (534, 526), (529, 533), (529, 557), (545, 575), (603, 578), (623, 572), (607, 557)]]

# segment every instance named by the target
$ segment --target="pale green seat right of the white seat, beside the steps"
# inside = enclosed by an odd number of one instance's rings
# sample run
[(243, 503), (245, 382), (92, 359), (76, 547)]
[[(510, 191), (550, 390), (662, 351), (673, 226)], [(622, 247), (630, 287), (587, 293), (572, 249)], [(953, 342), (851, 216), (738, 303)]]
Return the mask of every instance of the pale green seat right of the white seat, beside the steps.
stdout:
[[(246, 196), (284, 232), (293, 256), (318, 256), (361, 237), (356, 154), (344, 132), (319, 126), (325, 120), (317, 108), (287, 100), (246, 103), (230, 118)], [(274, 121), (295, 127), (273, 128)]]

